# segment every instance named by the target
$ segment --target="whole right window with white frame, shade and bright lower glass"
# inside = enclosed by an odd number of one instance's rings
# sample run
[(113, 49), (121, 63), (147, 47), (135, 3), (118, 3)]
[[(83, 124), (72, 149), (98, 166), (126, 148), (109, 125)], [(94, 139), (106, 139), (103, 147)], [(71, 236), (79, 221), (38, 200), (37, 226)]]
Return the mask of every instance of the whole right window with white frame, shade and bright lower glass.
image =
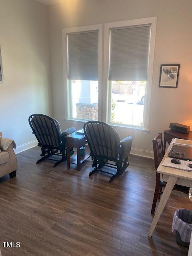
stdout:
[(148, 129), (156, 18), (105, 24), (107, 122)]

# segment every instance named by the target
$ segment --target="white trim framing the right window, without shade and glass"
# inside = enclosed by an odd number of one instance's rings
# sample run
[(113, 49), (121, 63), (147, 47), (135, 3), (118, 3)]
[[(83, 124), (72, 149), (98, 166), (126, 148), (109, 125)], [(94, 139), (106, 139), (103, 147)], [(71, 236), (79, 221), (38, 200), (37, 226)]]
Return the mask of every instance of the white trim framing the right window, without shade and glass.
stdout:
[[(110, 22), (105, 23), (104, 28), (104, 78), (103, 83), (103, 109), (102, 109), (102, 120), (108, 122), (109, 118), (109, 107), (110, 107), (110, 84), (108, 82), (108, 67), (109, 67), (109, 37), (110, 28), (118, 28), (124, 26), (135, 26), (142, 24), (151, 24), (151, 38), (150, 38), (150, 52), (149, 52), (149, 66), (148, 66), (148, 81), (146, 86), (146, 98), (144, 104), (144, 116), (143, 116), (143, 126), (138, 128), (138, 130), (149, 130), (149, 118), (150, 118), (150, 103), (151, 103), (151, 88), (152, 88), (152, 76), (153, 76), (153, 62), (154, 62), (154, 49), (155, 49), (155, 36), (156, 36), (156, 22), (157, 17), (141, 18), (136, 20), (124, 20), (120, 22)], [(107, 99), (107, 100), (105, 100)], [(118, 124), (112, 124), (114, 126), (120, 126)], [(123, 126), (125, 127), (125, 126)], [(134, 126), (127, 126), (128, 128), (137, 129)]]

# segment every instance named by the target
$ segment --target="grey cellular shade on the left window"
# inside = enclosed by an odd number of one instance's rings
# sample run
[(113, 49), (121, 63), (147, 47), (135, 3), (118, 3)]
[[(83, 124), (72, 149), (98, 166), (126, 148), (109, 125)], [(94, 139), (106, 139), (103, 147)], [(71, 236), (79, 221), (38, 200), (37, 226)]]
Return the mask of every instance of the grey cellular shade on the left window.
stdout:
[(98, 30), (67, 34), (68, 79), (98, 80)]

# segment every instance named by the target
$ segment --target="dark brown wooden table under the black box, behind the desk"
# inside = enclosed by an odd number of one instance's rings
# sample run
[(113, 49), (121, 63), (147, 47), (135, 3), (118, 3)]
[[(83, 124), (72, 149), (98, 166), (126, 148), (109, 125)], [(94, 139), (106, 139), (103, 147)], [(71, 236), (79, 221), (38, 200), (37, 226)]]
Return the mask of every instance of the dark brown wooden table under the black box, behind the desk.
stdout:
[(171, 143), (172, 139), (182, 139), (182, 140), (192, 140), (192, 132), (190, 131), (189, 133), (181, 133), (181, 132), (175, 132), (172, 130), (165, 130), (164, 131), (164, 152), (166, 149), (166, 142), (168, 144)]

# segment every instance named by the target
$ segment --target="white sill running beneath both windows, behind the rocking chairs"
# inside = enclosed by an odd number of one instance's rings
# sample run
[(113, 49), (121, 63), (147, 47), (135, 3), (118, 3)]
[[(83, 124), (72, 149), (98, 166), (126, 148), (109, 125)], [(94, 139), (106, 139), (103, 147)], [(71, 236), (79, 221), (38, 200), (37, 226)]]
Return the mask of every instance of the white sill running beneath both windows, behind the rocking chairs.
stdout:
[[(90, 120), (81, 120), (81, 119), (67, 119), (64, 118), (64, 121), (70, 123), (70, 124), (85, 124), (86, 122)], [(113, 128), (120, 130), (120, 131), (130, 131), (130, 132), (136, 132), (136, 133), (141, 133), (141, 134), (148, 134), (150, 130), (148, 129), (143, 129), (143, 128), (138, 128), (138, 127), (132, 127), (132, 126), (126, 126), (126, 125), (119, 125), (119, 124), (112, 124), (108, 123), (110, 126)]]

